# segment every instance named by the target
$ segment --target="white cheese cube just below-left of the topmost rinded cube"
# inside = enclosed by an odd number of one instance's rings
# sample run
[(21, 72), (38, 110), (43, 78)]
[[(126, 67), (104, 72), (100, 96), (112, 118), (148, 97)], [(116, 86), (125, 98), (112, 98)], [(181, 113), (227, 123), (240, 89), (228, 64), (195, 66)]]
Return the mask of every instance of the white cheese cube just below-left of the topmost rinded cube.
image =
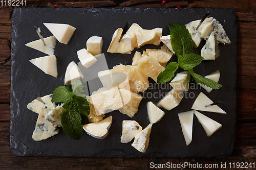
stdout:
[(86, 50), (86, 48), (82, 48), (76, 53), (81, 64), (86, 68), (91, 67), (97, 61), (97, 59)]

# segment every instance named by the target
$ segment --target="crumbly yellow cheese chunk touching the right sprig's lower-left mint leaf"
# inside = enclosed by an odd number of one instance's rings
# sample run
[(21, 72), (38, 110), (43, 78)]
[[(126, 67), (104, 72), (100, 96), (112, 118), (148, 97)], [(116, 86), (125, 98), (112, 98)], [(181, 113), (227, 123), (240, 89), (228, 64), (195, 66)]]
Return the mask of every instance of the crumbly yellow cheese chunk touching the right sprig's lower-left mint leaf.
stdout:
[(147, 77), (151, 77), (157, 82), (157, 77), (164, 67), (159, 64), (157, 59), (153, 56), (145, 56), (139, 60), (138, 68), (144, 72)]

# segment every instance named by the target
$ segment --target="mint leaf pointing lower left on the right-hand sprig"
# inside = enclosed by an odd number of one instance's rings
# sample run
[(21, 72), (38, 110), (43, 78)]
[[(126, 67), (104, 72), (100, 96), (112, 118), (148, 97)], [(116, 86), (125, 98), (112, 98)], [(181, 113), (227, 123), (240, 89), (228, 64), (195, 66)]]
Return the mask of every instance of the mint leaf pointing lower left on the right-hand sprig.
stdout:
[(179, 68), (179, 64), (172, 62), (169, 63), (166, 68), (160, 72), (160, 74), (157, 77), (157, 83), (165, 83), (173, 79), (174, 73)]

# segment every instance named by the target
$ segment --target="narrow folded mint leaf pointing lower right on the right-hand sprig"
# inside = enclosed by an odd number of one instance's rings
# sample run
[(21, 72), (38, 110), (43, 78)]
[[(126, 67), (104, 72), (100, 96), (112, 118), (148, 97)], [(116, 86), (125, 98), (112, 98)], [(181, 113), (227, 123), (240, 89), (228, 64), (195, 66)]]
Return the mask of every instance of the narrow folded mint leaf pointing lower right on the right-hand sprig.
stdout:
[(190, 75), (198, 82), (201, 83), (203, 85), (206, 85), (212, 89), (219, 89), (222, 87), (221, 84), (216, 83), (215, 81), (212, 81), (210, 79), (207, 79), (201, 75), (196, 74), (193, 69), (189, 69), (188, 72), (190, 73)]

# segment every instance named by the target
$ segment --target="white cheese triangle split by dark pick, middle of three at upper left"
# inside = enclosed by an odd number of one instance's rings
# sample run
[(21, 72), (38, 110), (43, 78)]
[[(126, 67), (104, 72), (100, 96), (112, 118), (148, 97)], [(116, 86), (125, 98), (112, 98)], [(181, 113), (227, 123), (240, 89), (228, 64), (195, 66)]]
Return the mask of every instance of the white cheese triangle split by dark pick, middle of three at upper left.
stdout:
[(25, 45), (35, 50), (38, 50), (42, 53), (53, 55), (56, 45), (56, 38), (54, 36), (44, 38), (46, 45), (42, 42), (41, 39), (26, 43)]

